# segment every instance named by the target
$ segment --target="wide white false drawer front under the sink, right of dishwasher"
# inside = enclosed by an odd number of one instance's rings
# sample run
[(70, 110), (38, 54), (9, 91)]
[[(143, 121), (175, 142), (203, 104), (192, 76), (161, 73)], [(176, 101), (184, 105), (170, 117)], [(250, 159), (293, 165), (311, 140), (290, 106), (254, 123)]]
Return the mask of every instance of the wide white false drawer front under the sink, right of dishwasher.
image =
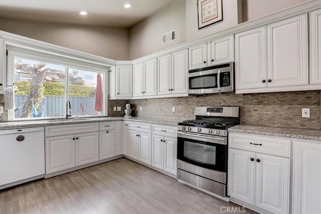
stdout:
[(46, 126), (46, 137), (98, 131), (98, 123)]

